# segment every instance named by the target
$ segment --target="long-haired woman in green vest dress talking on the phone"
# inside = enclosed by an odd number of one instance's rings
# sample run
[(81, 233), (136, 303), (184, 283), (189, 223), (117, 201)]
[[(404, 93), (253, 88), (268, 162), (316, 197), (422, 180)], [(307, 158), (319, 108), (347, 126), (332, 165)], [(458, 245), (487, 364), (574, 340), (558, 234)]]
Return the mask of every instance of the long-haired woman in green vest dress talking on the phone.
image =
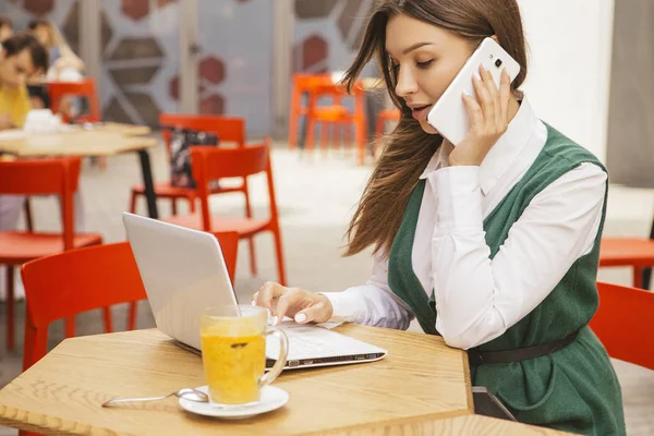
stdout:
[[(485, 37), (521, 65), (498, 89), (487, 71), (462, 96), (472, 129), (457, 147), (426, 123)], [(266, 283), (253, 304), (278, 319), (407, 328), (469, 351), (474, 385), (521, 422), (623, 435), (620, 387), (588, 324), (607, 174), (536, 118), (516, 0), (386, 0), (367, 25), (352, 85), (377, 56), (402, 117), (350, 225), (347, 254), (374, 246), (373, 276), (344, 292)], [(435, 363), (437, 364), (437, 363)]]

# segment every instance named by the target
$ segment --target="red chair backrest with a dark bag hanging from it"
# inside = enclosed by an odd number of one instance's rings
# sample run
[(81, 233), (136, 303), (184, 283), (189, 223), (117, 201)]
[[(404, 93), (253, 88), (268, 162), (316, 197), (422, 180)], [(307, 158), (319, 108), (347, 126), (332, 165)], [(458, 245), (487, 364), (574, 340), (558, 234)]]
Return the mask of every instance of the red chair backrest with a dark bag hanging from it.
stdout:
[[(245, 145), (245, 119), (243, 118), (161, 113), (159, 125), (215, 133), (220, 143), (235, 143), (239, 147)], [(170, 156), (170, 131), (164, 130), (161, 134)]]

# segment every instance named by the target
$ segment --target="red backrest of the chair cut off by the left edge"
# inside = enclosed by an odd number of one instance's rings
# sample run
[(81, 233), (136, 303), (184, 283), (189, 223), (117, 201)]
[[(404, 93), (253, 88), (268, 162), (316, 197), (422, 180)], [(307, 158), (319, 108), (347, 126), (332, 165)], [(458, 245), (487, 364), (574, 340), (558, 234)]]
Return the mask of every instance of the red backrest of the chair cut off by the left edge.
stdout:
[(0, 194), (59, 195), (64, 250), (73, 247), (73, 193), (81, 165), (80, 158), (0, 161)]

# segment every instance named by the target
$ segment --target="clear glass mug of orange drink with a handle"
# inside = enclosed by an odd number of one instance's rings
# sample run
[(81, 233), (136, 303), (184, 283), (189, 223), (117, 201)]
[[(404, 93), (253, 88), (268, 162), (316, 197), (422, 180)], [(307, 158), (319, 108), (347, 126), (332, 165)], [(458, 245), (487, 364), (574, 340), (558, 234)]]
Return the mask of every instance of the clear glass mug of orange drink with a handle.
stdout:
[[(245, 404), (259, 400), (286, 365), (289, 343), (283, 331), (268, 326), (268, 313), (251, 305), (206, 308), (199, 318), (202, 361), (209, 402)], [(279, 339), (279, 356), (266, 373), (266, 337)]]

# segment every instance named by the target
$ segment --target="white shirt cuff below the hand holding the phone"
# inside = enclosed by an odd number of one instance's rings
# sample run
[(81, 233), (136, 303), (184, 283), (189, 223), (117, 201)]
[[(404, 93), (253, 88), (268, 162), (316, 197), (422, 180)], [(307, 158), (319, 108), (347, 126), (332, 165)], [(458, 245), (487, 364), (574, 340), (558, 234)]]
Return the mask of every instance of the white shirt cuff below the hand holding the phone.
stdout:
[(443, 168), (427, 179), (437, 204), (435, 237), (483, 228), (480, 167)]

